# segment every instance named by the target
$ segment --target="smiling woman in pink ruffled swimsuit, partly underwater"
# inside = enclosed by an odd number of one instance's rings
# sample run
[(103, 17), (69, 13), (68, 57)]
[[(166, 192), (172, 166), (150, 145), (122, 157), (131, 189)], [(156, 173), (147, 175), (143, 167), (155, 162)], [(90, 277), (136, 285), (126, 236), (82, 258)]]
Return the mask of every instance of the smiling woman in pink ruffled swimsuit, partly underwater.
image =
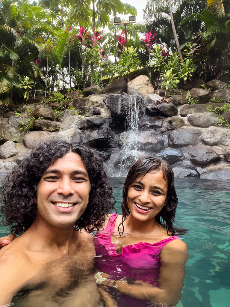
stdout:
[(180, 299), (187, 246), (173, 228), (178, 204), (166, 161), (140, 158), (123, 188), (122, 216), (95, 238), (96, 279), (122, 307), (171, 306)]

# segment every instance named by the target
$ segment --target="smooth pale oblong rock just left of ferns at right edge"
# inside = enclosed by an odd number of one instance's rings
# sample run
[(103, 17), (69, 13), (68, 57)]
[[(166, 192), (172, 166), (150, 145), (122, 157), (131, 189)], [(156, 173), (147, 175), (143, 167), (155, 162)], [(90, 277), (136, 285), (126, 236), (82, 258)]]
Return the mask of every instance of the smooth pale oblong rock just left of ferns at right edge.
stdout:
[(218, 115), (214, 112), (188, 114), (189, 122), (193, 126), (210, 127), (220, 123)]

